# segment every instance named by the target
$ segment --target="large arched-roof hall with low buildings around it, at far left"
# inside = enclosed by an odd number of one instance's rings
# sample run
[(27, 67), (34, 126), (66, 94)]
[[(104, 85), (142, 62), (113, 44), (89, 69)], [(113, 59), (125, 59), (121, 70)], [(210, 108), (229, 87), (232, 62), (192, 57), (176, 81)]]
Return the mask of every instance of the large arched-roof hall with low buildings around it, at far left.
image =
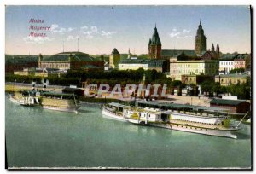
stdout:
[[(7, 69), (12, 64), (6, 64)], [(67, 73), (67, 70), (83, 70), (84, 72), (89, 71), (103, 71), (104, 61), (90, 57), (90, 55), (74, 51), (74, 52), (61, 52), (55, 55), (43, 56), (38, 55), (36, 61), (21, 64), (15, 63), (15, 68), (12, 69), (16, 75), (34, 75), (38, 77), (48, 76), (60, 76), (63, 73)]]

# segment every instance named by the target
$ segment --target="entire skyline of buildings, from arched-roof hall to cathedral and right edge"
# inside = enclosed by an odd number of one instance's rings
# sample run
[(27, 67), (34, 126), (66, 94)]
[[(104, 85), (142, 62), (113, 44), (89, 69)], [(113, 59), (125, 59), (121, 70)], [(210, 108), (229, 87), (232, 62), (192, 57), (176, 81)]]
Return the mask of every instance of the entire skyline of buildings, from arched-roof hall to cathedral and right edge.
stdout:
[[(196, 84), (201, 77), (217, 76), (215, 81), (224, 82), (224, 85), (234, 82), (230, 78), (243, 76), (229, 75), (232, 69), (247, 68), (246, 59), (248, 54), (222, 54), (219, 44), (216, 49), (212, 44), (207, 50), (207, 37), (205, 36), (201, 22), (195, 34), (195, 49), (161, 49), (162, 44), (156, 26), (152, 38), (148, 42), (148, 58), (138, 59), (128, 51), (127, 58), (121, 59), (118, 49), (114, 48), (109, 55), (108, 61), (103, 55), (94, 58), (90, 55), (74, 51), (61, 52), (55, 55), (38, 55), (37, 59), (28, 59), (26, 64), (18, 62), (6, 63), (6, 71), (13, 71), (19, 75), (35, 75), (47, 77), (48, 75), (60, 75), (68, 69), (87, 71), (103, 71), (111, 69), (119, 70), (156, 70), (165, 73), (172, 80), (181, 80), (185, 83)], [(12, 61), (12, 59), (9, 59)], [(32, 61), (33, 60), (33, 61)], [(37, 60), (37, 61), (35, 61)], [(228, 76), (229, 75), (229, 76)], [(225, 79), (224, 79), (225, 77)], [(246, 76), (244, 76), (246, 77)], [(188, 80), (189, 79), (189, 80)], [(243, 82), (244, 79), (236, 80)]]

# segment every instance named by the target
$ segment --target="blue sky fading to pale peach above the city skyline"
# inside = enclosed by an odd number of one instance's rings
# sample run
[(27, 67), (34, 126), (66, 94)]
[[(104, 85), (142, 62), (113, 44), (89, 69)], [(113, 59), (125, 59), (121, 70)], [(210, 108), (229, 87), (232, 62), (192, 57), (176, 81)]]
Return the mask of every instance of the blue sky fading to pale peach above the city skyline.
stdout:
[[(110, 54), (113, 48), (147, 54), (155, 25), (162, 49), (194, 49), (200, 20), (207, 49), (218, 43), (223, 53), (251, 52), (248, 6), (6, 6), (5, 10), (6, 54), (53, 55), (79, 49), (96, 55)], [(50, 28), (34, 31), (30, 26)], [(44, 37), (29, 36), (31, 32)]]

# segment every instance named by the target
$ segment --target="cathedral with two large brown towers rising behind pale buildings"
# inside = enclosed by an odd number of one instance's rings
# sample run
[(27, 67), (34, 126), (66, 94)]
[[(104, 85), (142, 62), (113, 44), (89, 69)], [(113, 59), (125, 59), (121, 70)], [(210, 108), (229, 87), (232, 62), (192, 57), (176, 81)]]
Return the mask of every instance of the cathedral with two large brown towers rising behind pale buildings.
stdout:
[(198, 29), (195, 35), (195, 49), (162, 49), (159, 33), (156, 26), (152, 38), (149, 39), (148, 43), (148, 58), (149, 59), (168, 59), (174, 55), (184, 53), (189, 57), (200, 57), (203, 60), (218, 59), (220, 55), (219, 45), (217, 44), (216, 50), (212, 44), (212, 49), (207, 50), (207, 37), (204, 34), (204, 30), (199, 23)]

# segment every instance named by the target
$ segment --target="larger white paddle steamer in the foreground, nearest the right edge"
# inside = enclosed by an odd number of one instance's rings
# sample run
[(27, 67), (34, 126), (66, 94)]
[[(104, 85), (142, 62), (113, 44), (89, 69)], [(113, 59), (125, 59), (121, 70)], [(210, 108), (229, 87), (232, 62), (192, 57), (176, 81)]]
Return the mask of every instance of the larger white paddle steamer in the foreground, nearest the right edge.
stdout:
[[(184, 106), (185, 107), (185, 106)], [(222, 114), (162, 110), (152, 107), (130, 107), (119, 103), (103, 106), (103, 115), (138, 125), (151, 125), (177, 131), (210, 136), (237, 138), (239, 125), (231, 125), (230, 117)]]

